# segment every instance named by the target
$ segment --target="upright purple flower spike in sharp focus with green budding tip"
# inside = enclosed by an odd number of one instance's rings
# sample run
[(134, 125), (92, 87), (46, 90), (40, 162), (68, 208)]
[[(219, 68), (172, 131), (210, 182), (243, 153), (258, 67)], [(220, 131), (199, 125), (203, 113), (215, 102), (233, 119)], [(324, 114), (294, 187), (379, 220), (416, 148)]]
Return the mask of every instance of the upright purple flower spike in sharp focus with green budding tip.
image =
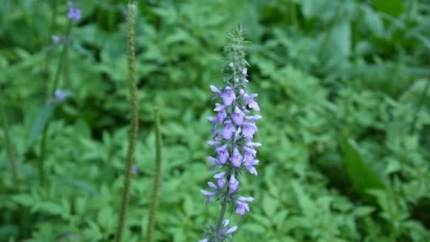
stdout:
[[(208, 160), (213, 163), (211, 171), (221, 166), (221, 172), (214, 175), (216, 184), (209, 182), (211, 189), (201, 190), (201, 192), (207, 196), (207, 204), (215, 197), (222, 202), (223, 207), (230, 204), (232, 209), (236, 207), (238, 214), (244, 215), (245, 212), (250, 211), (248, 203), (254, 199), (239, 195), (240, 183), (237, 177), (242, 171), (257, 175), (255, 165), (259, 161), (255, 159), (257, 154), (255, 147), (261, 144), (252, 142), (252, 138), (257, 132), (255, 121), (261, 116), (251, 113), (252, 110), (260, 111), (260, 106), (255, 102), (258, 95), (246, 93), (249, 81), (248, 62), (245, 60), (245, 47), (243, 47), (243, 30), (239, 28), (229, 35), (229, 38), (232, 42), (224, 48), (226, 53), (226, 66), (223, 68), (224, 86), (223, 88), (210, 86), (215, 94), (214, 99), (219, 99), (220, 102), (215, 104), (216, 115), (207, 118), (213, 122), (211, 131), (214, 133), (213, 139), (208, 144), (215, 147), (215, 155), (209, 156)], [(223, 210), (221, 209), (221, 220)], [(220, 234), (220, 229), (221, 226), (218, 225), (212, 233), (205, 233), (207, 241), (211, 241), (210, 238), (214, 241), (224, 238), (226, 234)], [(211, 237), (211, 234), (217, 237)]]

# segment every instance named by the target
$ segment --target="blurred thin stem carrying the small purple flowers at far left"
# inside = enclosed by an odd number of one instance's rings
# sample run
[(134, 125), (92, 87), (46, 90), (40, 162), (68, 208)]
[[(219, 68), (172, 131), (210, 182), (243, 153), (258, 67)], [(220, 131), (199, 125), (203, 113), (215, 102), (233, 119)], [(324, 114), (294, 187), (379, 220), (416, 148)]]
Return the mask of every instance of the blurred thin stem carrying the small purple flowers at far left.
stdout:
[[(69, 36), (71, 31), (71, 21), (69, 21), (68, 25), (67, 25), (67, 30), (66, 30), (66, 37)], [(66, 52), (67, 49), (69, 48), (69, 43), (65, 43), (63, 50), (62, 50), (62, 54), (59, 57), (59, 62), (57, 65), (57, 71), (55, 72), (55, 76), (54, 76), (54, 84), (52, 86), (52, 90), (50, 93), (50, 96), (54, 96), (55, 94), (55, 90), (57, 90), (57, 86), (58, 86), (58, 82), (59, 82), (59, 76), (62, 73), (62, 66), (63, 66), (63, 62), (64, 62), (64, 57), (66, 56)], [(49, 98), (49, 96), (48, 96)], [(47, 139), (47, 132), (48, 132), (48, 128), (50, 127), (50, 120), (47, 121), (47, 124), (45, 126), (45, 128), (43, 129), (43, 134), (42, 134), (42, 142), (40, 142), (40, 158), (38, 161), (38, 173), (39, 173), (39, 183), (40, 185), (43, 185), (45, 183), (45, 171), (44, 171), (44, 167), (45, 167), (45, 151), (46, 151), (46, 139)]]

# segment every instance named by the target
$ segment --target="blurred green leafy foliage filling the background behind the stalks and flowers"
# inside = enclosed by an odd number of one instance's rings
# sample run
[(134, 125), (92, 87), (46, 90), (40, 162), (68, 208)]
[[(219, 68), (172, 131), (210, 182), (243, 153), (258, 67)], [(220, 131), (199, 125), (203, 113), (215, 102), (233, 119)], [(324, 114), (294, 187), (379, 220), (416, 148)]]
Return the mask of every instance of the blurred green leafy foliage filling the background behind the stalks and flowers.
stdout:
[[(22, 190), (13, 190), (1, 130), (1, 241), (113, 238), (129, 120), (126, 2), (78, 2), (83, 19), (60, 80), (74, 96), (52, 114), (45, 187), (32, 127), (52, 86), (61, 48), (50, 34), (64, 33), (66, 2), (55, 25), (52, 1), (2, 2), (0, 98)], [(429, 1), (138, 2), (141, 131), (125, 241), (146, 234), (154, 105), (164, 140), (157, 240), (197, 241), (216, 219), (219, 207), (199, 193), (211, 176), (205, 118), (209, 85), (221, 84), (221, 47), (238, 23), (251, 41), (263, 146), (259, 175), (239, 179), (255, 202), (231, 216), (235, 241), (430, 240)]]

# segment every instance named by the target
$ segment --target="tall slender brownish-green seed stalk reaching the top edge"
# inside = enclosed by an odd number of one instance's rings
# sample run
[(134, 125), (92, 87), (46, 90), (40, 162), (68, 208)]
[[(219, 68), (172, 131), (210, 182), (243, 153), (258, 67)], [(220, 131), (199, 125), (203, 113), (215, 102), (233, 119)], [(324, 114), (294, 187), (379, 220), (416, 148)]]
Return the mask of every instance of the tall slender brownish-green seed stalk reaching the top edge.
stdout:
[(124, 224), (127, 217), (127, 207), (129, 191), (131, 187), (132, 165), (134, 163), (134, 151), (136, 149), (137, 133), (139, 131), (139, 113), (137, 105), (137, 88), (136, 88), (136, 57), (134, 53), (134, 18), (136, 16), (136, 4), (130, 3), (127, 11), (127, 57), (129, 62), (129, 89), (130, 89), (130, 104), (131, 104), (131, 127), (129, 133), (129, 149), (127, 152), (127, 162), (125, 163), (124, 190), (122, 193), (122, 202), (120, 207), (120, 217), (118, 217), (117, 242), (122, 241), (124, 232)]

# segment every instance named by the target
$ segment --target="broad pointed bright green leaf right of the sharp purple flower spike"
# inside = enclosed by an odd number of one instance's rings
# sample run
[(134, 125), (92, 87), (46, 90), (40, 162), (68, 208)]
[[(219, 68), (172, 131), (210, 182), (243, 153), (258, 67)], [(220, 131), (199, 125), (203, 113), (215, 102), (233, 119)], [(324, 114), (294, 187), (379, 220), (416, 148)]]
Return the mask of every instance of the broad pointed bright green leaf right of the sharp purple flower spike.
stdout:
[(385, 185), (382, 181), (363, 161), (353, 139), (348, 139), (346, 135), (344, 135), (342, 149), (344, 151), (344, 159), (347, 165), (349, 178), (354, 188), (361, 193), (361, 195), (367, 196), (367, 191), (370, 189), (385, 190)]

